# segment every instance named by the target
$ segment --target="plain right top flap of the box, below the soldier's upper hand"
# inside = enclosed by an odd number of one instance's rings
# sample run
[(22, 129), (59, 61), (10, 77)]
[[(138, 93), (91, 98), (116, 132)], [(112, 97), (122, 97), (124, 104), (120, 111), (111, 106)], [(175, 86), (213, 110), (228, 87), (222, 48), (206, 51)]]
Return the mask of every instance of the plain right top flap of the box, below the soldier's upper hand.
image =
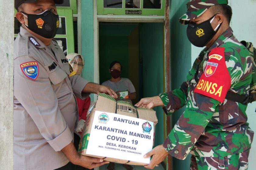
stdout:
[(145, 119), (157, 124), (158, 120), (155, 114), (155, 110), (138, 107), (137, 111), (140, 119)]

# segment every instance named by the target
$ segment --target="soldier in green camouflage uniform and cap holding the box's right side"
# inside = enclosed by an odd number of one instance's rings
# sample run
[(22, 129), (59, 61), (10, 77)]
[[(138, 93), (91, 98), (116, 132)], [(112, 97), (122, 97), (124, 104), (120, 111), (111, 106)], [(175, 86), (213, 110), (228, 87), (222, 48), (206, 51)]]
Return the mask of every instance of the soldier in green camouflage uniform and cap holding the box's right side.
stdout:
[(190, 42), (204, 48), (179, 89), (141, 99), (138, 107), (163, 106), (168, 115), (186, 105), (184, 113), (153, 155), (154, 168), (168, 153), (185, 159), (191, 170), (247, 169), (254, 132), (247, 123), (247, 104), (226, 99), (227, 92), (248, 96), (252, 57), (229, 27), (227, 0), (190, 0), (180, 18), (188, 24)]

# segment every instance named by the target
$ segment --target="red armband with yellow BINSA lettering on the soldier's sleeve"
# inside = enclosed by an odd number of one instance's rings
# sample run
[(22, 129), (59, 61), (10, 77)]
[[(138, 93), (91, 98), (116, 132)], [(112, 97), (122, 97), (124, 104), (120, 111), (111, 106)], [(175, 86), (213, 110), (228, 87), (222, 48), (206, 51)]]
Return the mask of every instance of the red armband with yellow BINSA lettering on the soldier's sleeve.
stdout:
[(211, 97), (220, 102), (224, 102), (231, 85), (224, 49), (224, 47), (217, 47), (211, 50), (204, 73), (194, 90), (195, 93)]

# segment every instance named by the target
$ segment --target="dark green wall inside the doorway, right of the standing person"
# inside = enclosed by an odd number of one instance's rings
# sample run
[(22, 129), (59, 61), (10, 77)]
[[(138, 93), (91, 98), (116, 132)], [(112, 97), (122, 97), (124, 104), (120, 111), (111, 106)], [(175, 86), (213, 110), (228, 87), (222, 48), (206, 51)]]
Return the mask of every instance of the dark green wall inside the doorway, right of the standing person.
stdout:
[[(162, 23), (139, 24), (139, 53), (143, 60), (143, 97), (156, 96), (163, 92), (163, 25)], [(155, 146), (164, 141), (164, 114), (161, 107), (155, 107)]]

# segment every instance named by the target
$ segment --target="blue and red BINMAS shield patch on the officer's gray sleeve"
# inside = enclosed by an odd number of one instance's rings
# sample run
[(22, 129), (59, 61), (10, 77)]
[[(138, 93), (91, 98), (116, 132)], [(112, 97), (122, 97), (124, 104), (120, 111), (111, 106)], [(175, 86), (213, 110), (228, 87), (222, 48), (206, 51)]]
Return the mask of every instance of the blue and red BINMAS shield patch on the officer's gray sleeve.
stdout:
[(27, 78), (31, 80), (37, 79), (39, 68), (36, 61), (30, 61), (27, 63), (20, 64), (20, 68)]

